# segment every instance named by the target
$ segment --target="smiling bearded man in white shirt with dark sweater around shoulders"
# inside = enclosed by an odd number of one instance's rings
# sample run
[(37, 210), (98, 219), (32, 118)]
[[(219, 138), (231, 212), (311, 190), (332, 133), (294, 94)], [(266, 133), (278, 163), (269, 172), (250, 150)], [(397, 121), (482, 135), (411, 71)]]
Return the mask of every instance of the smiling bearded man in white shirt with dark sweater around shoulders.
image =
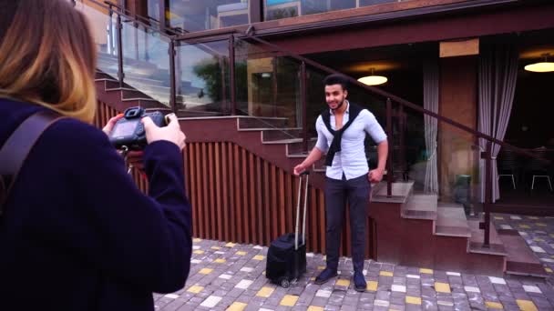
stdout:
[[(317, 143), (310, 155), (298, 166), (294, 174), (300, 175), (326, 154), (325, 164), (325, 217), (327, 227), (327, 266), (315, 278), (315, 284), (323, 284), (337, 276), (339, 247), (343, 229), (346, 198), (350, 208), (352, 228), (352, 261), (354, 288), (363, 292), (366, 282), (363, 274), (366, 236), (366, 206), (369, 202), (371, 183), (378, 183), (385, 172), (388, 143), (383, 127), (367, 109), (349, 103), (346, 78), (328, 75), (323, 80), (325, 100), (329, 110), (317, 118)], [(378, 165), (369, 171), (365, 157), (364, 139), (369, 134), (377, 144)]]

